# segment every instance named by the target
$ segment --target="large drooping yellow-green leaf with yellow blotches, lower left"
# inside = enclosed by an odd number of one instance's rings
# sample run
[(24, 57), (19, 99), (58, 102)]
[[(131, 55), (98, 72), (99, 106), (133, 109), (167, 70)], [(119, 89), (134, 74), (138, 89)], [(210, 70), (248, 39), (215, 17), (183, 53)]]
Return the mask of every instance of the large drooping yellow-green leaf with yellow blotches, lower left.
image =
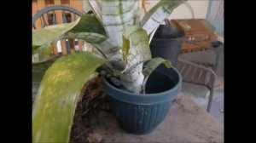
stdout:
[(84, 84), (104, 60), (88, 52), (69, 54), (46, 71), (32, 111), (32, 142), (68, 142)]

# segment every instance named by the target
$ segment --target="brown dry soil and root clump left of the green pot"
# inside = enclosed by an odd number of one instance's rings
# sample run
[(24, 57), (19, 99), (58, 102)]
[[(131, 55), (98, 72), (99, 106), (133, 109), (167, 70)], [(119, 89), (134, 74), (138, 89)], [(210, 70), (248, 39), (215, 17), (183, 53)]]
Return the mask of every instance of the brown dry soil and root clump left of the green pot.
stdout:
[(106, 94), (102, 91), (101, 79), (96, 77), (84, 86), (74, 115), (69, 142), (102, 142), (101, 135), (94, 131), (94, 128), (102, 122), (98, 116), (100, 112), (110, 111)]

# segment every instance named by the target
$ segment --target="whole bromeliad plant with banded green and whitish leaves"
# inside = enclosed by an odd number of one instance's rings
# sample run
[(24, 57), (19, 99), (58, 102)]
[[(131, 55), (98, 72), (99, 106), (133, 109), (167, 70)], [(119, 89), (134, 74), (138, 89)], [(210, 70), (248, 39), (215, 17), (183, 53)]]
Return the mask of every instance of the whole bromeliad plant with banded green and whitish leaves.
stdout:
[(98, 52), (62, 56), (45, 72), (33, 103), (32, 141), (68, 142), (81, 89), (97, 76), (99, 66), (118, 78), (126, 91), (145, 94), (149, 74), (161, 63), (171, 66), (168, 60), (151, 59), (148, 36), (185, 1), (160, 0), (140, 21), (142, 1), (90, 0), (94, 15), (33, 30), (33, 63), (50, 60), (51, 45), (60, 39), (82, 39), (84, 46), (92, 45)]

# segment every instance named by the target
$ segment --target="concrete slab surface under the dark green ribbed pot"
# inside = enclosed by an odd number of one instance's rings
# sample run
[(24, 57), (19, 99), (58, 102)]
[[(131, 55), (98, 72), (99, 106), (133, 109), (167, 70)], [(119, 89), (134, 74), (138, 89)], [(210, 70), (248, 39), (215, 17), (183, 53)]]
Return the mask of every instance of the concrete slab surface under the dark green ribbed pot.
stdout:
[(102, 142), (224, 142), (224, 127), (189, 97), (180, 94), (163, 123), (145, 135), (127, 134), (108, 112), (101, 112), (102, 122), (94, 133)]

